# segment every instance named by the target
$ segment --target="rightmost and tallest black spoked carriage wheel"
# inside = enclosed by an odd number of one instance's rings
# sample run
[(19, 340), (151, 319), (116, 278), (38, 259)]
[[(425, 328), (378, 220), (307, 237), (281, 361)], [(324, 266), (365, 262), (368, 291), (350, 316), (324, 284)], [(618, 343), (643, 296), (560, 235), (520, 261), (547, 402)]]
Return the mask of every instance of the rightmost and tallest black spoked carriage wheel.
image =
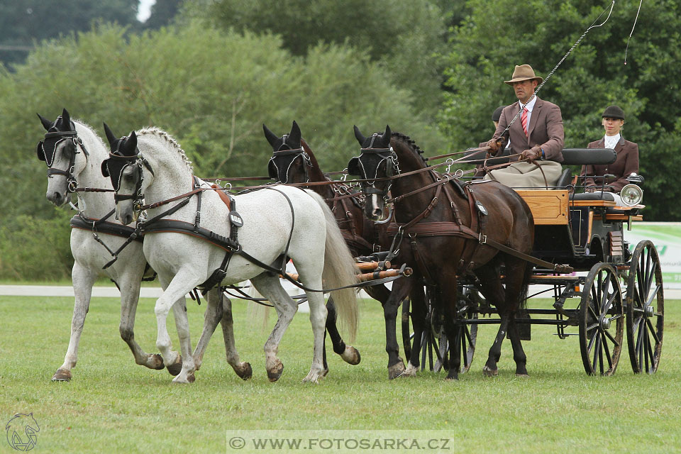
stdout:
[(665, 314), (660, 257), (650, 240), (636, 245), (626, 287), (626, 343), (633, 372), (654, 374), (660, 364)]

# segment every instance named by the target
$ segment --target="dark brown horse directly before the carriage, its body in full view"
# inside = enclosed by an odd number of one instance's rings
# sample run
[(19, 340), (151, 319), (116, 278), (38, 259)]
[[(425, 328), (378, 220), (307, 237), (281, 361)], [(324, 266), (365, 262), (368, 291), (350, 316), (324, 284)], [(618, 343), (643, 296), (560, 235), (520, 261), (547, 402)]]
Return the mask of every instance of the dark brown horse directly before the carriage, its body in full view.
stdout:
[[(370, 218), (380, 216), (388, 191), (391, 192), (396, 223), (390, 226), (389, 234), (397, 237), (400, 259), (414, 269), (410, 279), (399, 279), (393, 284), (386, 303), (394, 309), (389, 316), (393, 319), (397, 316), (397, 304), (419, 284), (420, 277), (436, 289), (433, 305), (436, 313), (444, 316), (449, 345), (461, 345), (460, 336), (465, 331), (457, 323), (457, 281), (458, 277), (470, 275), (471, 279), (478, 279), (480, 292), (497, 306), (501, 317), (483, 372), (490, 376), (498, 374), (497, 362), (508, 333), (516, 374), (527, 375), (515, 315), (526, 299), (532, 266), (489, 245), (496, 242), (520, 253), (531, 253), (534, 222), (525, 201), (513, 189), (497, 182), (455, 186), (458, 182), (449, 182), (449, 177), (426, 170), (421, 150), (406, 136), (391, 133), (389, 127), (384, 133), (365, 137), (355, 126), (355, 138), (362, 150), (350, 160), (348, 173), (363, 180), (365, 214)], [(420, 332), (426, 329), (418, 321), (413, 320), (412, 351), (419, 351)], [(397, 358), (397, 350), (388, 353)], [(414, 356), (417, 355), (411, 355), (405, 375), (416, 372), (412, 360), (418, 358)], [(458, 379), (459, 348), (451, 348), (450, 356), (453, 358), (447, 378)]]

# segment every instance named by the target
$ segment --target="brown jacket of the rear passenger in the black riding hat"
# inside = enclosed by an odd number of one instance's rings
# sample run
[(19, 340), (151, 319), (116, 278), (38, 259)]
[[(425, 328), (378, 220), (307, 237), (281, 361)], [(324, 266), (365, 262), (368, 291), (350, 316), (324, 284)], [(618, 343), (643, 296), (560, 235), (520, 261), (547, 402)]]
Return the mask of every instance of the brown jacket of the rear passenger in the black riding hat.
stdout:
[[(604, 148), (604, 146), (605, 139), (602, 138), (589, 143), (587, 148)], [(612, 164), (582, 166), (582, 175), (598, 176), (609, 173), (617, 177), (614, 182), (606, 182), (607, 186), (604, 190), (609, 192), (620, 192), (626, 184), (629, 184), (626, 177), (629, 177), (632, 172), (638, 173), (638, 145), (636, 143), (620, 137), (619, 142), (615, 145), (615, 151), (617, 152), (617, 159)], [(585, 186), (601, 187), (602, 184), (601, 178), (587, 178), (585, 181)]]

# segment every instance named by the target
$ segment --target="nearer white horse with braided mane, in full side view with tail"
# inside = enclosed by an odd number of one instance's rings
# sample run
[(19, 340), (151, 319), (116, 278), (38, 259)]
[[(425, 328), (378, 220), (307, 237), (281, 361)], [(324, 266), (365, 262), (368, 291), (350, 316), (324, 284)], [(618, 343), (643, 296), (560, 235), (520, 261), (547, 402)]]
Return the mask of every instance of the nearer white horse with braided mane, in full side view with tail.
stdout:
[[(155, 306), (156, 346), (164, 360), (175, 362), (176, 355), (171, 350), (167, 333), (168, 311), (175, 301), (204, 284), (215, 270), (224, 267), (225, 272), (216, 284), (235, 284), (250, 279), (277, 310), (277, 323), (265, 343), (265, 367), (270, 381), (278, 380), (284, 369), (277, 358), (279, 341), (292, 321), (297, 305), (284, 291), (277, 273), (272, 272), (272, 268), (265, 270), (261, 265), (273, 265), (279, 270), (286, 256), (292, 258), (301, 282), (308, 289), (322, 289), (323, 284), (327, 288), (343, 287), (356, 282), (353, 258), (326, 203), (314, 192), (276, 186), (235, 196), (236, 206), (229, 209), (209, 184), (192, 177), (192, 167), (184, 151), (164, 131), (143, 129), (120, 139), (106, 125), (105, 131), (112, 154), (103, 171), (114, 182), (116, 216), (125, 224), (131, 223), (135, 217), (135, 204), (140, 204), (141, 197), (150, 203), (146, 206), (148, 221), (142, 228), (144, 254), (158, 273), (164, 289)], [(175, 197), (177, 199), (170, 201)], [(164, 204), (166, 201), (168, 203)], [(160, 221), (156, 222), (156, 218)], [(172, 219), (170, 224), (169, 218)], [(236, 219), (237, 225), (239, 221), (243, 222), (243, 227), (237, 229), (237, 252), (227, 260), (228, 238), (233, 229), (230, 219)], [(205, 229), (203, 233), (199, 232), (199, 226)], [(219, 237), (206, 238), (206, 232)], [(251, 259), (245, 255), (250, 255)], [(258, 261), (260, 265), (256, 263)], [(318, 382), (325, 372), (322, 350), (326, 306), (322, 293), (306, 293), (314, 333), (314, 354), (304, 382)], [(353, 336), (357, 323), (355, 289), (342, 289), (332, 294), (338, 315), (347, 323), (350, 336)], [(206, 338), (207, 341), (206, 336), (209, 334), (204, 328), (202, 340)], [(194, 358), (185, 354), (189, 351), (189, 339), (179, 338), (182, 372), (173, 382), (192, 382)]]

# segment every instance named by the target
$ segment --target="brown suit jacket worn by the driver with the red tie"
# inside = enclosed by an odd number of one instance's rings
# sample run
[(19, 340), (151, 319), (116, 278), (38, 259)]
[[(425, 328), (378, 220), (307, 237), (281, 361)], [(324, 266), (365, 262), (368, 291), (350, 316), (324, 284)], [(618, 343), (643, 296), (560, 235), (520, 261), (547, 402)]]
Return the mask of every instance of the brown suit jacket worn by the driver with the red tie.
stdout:
[[(499, 118), (499, 126), (492, 137), (493, 139), (499, 138), (502, 135), (506, 126), (509, 125), (519, 111), (520, 103), (518, 101), (504, 107), (502, 116)], [(509, 138), (511, 139), (511, 153), (514, 155), (539, 145), (544, 151), (546, 160), (563, 162), (564, 132), (563, 116), (560, 115), (560, 107), (537, 98), (530, 117), (530, 124), (527, 128), (527, 136), (523, 131), (520, 117), (518, 117), (509, 129)], [(516, 157), (513, 160), (518, 160), (518, 158)]]

